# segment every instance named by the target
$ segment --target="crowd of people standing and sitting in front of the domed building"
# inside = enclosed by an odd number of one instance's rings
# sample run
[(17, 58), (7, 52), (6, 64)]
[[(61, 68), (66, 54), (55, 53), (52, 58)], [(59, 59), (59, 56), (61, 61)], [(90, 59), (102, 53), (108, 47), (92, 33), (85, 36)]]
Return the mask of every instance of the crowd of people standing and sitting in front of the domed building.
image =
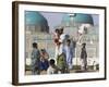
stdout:
[[(32, 51), (32, 73), (40, 74), (47, 71), (47, 74), (70, 73), (73, 70), (73, 58), (75, 53), (76, 42), (70, 35), (63, 33), (64, 28), (57, 28), (53, 33), (53, 42), (56, 47), (55, 58), (49, 60), (49, 53), (46, 49), (38, 49), (37, 42), (33, 44)], [(87, 70), (87, 52), (86, 44), (82, 44), (81, 59), (82, 70)]]

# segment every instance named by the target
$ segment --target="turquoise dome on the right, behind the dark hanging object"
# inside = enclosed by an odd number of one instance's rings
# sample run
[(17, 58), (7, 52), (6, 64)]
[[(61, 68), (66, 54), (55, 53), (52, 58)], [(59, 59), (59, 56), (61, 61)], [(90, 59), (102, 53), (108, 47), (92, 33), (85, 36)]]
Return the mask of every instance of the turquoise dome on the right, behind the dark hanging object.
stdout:
[(90, 14), (82, 14), (82, 13), (75, 13), (75, 15), (65, 15), (63, 16), (63, 22), (70, 22), (71, 17), (73, 17), (74, 23), (88, 23), (94, 25), (94, 21)]

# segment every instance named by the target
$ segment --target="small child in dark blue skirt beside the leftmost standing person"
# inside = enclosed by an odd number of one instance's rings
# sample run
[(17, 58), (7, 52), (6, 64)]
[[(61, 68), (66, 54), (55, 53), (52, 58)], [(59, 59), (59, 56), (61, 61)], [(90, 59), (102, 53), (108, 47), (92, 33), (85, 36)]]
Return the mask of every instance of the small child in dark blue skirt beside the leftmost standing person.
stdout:
[(40, 50), (40, 70), (41, 71), (47, 71), (49, 63), (48, 63), (49, 54), (45, 49)]

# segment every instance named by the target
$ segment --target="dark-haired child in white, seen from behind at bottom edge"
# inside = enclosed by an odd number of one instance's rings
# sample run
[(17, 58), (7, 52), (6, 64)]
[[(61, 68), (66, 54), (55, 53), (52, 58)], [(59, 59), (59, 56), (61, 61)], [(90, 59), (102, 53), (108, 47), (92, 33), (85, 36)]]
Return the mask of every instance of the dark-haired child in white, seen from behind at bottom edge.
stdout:
[(49, 62), (49, 67), (47, 70), (47, 74), (58, 74), (58, 67), (55, 65), (53, 59), (51, 59)]

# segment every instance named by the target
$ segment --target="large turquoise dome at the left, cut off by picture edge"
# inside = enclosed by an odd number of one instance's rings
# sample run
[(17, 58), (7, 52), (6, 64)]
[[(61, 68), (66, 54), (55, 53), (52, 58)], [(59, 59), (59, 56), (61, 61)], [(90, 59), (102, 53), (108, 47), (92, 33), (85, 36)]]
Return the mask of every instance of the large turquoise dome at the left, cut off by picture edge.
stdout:
[(49, 32), (47, 20), (37, 11), (25, 11), (25, 25), (39, 26), (40, 32)]

